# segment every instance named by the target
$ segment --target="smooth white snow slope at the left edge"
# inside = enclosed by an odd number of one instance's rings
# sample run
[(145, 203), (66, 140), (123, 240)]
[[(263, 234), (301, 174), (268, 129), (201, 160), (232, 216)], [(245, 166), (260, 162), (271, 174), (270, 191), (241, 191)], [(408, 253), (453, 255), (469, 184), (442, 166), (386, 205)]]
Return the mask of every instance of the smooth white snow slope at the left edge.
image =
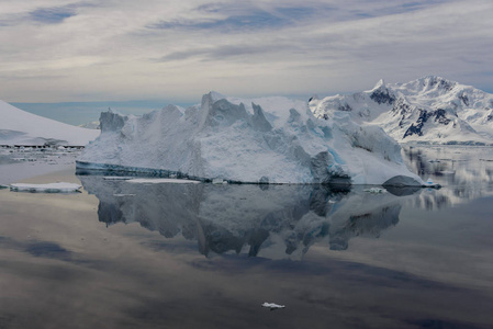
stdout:
[(0, 145), (85, 146), (100, 132), (42, 117), (0, 101)]

